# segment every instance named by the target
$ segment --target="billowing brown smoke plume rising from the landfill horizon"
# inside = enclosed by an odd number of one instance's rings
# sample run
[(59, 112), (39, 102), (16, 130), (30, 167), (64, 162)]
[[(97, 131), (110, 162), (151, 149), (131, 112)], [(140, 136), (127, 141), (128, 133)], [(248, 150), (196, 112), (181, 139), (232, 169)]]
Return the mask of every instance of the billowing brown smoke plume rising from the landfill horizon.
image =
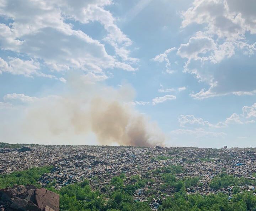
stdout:
[(163, 146), (165, 135), (157, 124), (129, 103), (133, 95), (129, 86), (119, 90), (90, 86), (62, 97), (41, 98), (26, 109), (23, 131), (52, 144), (62, 139), (84, 145), (86, 134), (94, 134), (93, 145)]

